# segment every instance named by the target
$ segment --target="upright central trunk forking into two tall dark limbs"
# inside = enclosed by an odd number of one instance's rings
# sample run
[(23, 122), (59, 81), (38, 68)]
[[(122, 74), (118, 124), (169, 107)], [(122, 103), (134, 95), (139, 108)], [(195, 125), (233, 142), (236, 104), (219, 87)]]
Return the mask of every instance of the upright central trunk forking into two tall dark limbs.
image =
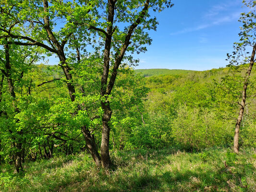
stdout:
[(112, 35), (115, 31), (113, 28), (113, 20), (114, 20), (114, 13), (115, 13), (115, 3), (116, 0), (109, 0), (108, 1), (108, 27), (107, 32), (99, 30), (106, 35), (105, 38), (105, 50), (104, 50), (104, 66), (103, 66), (103, 73), (101, 78), (101, 89), (100, 95), (105, 97), (105, 102), (101, 102), (101, 107), (104, 110), (104, 114), (102, 117), (102, 135), (101, 135), (101, 146), (100, 146), (100, 155), (101, 155), (101, 164), (103, 168), (110, 168), (111, 161), (110, 161), (110, 154), (109, 154), (109, 142), (110, 142), (110, 126), (109, 121), (111, 119), (112, 110), (110, 108), (110, 102), (108, 101), (108, 96), (111, 94), (111, 90), (114, 86), (116, 76), (118, 73), (118, 68), (122, 62), (123, 56), (125, 54), (126, 49), (130, 44), (131, 36), (134, 32), (134, 29), (140, 24), (141, 20), (146, 14), (148, 10), (149, 0), (146, 0), (145, 6), (143, 10), (138, 14), (138, 18), (136, 21), (131, 24), (127, 35), (125, 36), (125, 40), (123, 42), (122, 47), (120, 48), (120, 53), (116, 54), (115, 63), (113, 66), (113, 72), (110, 76), (110, 81), (108, 83), (109, 77), (109, 70), (110, 70), (110, 48), (111, 48), (111, 39)]

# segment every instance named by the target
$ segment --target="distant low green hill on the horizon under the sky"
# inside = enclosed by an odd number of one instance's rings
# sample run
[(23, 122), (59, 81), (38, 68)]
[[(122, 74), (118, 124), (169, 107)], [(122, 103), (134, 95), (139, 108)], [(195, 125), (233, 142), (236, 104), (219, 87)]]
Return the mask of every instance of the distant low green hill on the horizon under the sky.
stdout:
[(155, 75), (174, 75), (174, 74), (187, 74), (195, 72), (192, 70), (181, 70), (181, 69), (135, 69), (136, 73), (142, 73), (142, 76), (149, 77)]

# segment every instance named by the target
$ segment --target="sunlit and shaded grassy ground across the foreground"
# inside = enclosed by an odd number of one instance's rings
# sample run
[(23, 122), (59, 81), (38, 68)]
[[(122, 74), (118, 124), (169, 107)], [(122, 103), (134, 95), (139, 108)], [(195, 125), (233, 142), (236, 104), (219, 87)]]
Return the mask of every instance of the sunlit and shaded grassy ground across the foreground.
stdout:
[(28, 163), (24, 175), (5, 166), (1, 192), (256, 192), (256, 151), (174, 149), (117, 151), (106, 173), (90, 156), (60, 156)]

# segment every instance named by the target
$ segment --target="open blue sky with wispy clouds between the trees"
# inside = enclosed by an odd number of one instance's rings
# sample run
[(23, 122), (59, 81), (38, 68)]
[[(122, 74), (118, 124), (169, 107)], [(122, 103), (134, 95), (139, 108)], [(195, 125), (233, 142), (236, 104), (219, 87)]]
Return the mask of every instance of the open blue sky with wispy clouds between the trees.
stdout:
[(173, 0), (174, 6), (155, 13), (159, 25), (152, 45), (136, 55), (135, 69), (209, 70), (225, 67), (227, 53), (238, 41), (242, 0)]

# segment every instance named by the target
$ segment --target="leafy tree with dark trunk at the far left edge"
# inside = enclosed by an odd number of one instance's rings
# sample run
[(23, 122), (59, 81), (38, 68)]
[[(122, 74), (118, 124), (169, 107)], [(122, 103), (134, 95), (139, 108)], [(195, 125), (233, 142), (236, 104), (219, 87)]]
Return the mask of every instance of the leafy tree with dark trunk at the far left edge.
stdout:
[[(18, 118), (21, 112), (20, 100), (30, 95), (30, 79), (24, 80), (30, 66), (38, 60), (37, 50), (20, 48), (15, 45), (8, 45), (8, 39), (2, 41), (3, 51), (0, 51), (0, 72), (1, 79), (1, 134), (12, 142), (11, 156), (17, 172), (22, 171), (24, 161), (24, 146), (26, 136), (24, 129), (20, 126)], [(14, 48), (12, 48), (14, 47)], [(6, 79), (8, 90), (2, 90), (3, 80)], [(27, 90), (23, 91), (26, 87)], [(24, 89), (26, 89), (24, 88)], [(2, 96), (2, 92), (4, 96)], [(24, 93), (26, 92), (26, 93)], [(25, 96), (24, 96), (25, 95)]]

